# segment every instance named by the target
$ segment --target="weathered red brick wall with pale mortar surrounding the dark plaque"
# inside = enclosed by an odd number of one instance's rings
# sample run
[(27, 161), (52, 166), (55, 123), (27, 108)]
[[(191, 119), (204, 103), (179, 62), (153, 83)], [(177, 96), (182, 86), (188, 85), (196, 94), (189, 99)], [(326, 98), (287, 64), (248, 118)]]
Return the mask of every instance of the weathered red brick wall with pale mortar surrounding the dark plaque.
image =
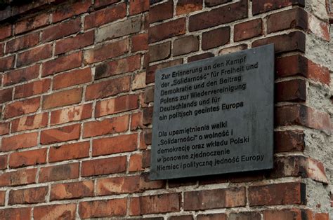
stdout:
[[(332, 217), (332, 33), (322, 4), (7, 6), (0, 11), (0, 219)], [(267, 43), (276, 57), (275, 168), (150, 181), (155, 71)]]

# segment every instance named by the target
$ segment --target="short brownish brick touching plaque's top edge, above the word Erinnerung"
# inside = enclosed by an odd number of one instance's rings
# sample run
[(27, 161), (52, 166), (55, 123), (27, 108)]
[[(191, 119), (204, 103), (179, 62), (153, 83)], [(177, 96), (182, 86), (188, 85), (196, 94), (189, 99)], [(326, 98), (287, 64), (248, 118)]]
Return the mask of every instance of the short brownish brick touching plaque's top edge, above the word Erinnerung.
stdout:
[(199, 50), (199, 39), (197, 36), (185, 36), (174, 41), (174, 56), (183, 55)]

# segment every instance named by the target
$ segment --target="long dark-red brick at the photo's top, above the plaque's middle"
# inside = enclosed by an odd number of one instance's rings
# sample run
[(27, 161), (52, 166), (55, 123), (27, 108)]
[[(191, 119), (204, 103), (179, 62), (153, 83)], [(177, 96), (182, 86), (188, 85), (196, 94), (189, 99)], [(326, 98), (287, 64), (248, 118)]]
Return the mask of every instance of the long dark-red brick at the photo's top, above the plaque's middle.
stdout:
[(247, 18), (247, 1), (245, 0), (190, 16), (189, 30), (194, 32), (242, 18)]

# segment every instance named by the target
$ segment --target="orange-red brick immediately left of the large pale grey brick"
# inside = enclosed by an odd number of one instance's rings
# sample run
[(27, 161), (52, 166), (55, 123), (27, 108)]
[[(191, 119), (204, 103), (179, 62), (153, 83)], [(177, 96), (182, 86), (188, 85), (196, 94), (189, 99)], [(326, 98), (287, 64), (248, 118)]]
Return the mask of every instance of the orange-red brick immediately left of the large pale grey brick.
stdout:
[(93, 31), (84, 34), (77, 34), (66, 39), (61, 39), (55, 43), (55, 55), (60, 53), (67, 53), (71, 50), (84, 48), (93, 44), (94, 34)]

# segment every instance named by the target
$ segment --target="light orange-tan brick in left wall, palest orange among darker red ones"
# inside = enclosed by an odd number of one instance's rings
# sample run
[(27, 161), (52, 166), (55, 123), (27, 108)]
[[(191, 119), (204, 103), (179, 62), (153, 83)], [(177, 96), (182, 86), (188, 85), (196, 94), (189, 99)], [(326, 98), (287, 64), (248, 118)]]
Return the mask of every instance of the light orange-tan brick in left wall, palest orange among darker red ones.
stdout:
[(61, 92), (54, 92), (51, 95), (43, 96), (42, 109), (52, 109), (55, 107), (77, 104), (82, 99), (82, 88), (74, 88)]

